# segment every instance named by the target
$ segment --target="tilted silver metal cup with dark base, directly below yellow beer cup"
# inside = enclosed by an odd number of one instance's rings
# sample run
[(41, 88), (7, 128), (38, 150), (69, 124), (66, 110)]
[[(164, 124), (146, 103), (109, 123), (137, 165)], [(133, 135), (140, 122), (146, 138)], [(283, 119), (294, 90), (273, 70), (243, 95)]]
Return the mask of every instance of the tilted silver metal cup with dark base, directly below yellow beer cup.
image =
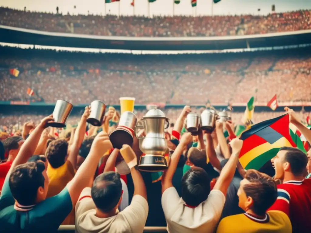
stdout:
[(132, 146), (137, 117), (130, 111), (121, 114), (118, 127), (109, 135), (114, 148), (121, 149), (123, 144)]

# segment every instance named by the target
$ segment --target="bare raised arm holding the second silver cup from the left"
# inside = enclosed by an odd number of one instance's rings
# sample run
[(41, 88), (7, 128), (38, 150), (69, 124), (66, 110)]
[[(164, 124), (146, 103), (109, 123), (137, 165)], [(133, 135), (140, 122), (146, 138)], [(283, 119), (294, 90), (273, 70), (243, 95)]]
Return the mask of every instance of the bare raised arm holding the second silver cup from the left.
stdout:
[(80, 146), (83, 142), (85, 130), (86, 130), (86, 120), (90, 116), (90, 107), (85, 107), (84, 113), (81, 117), (81, 120), (77, 126), (77, 130), (73, 136), (72, 145), (68, 148), (68, 158), (72, 164), (72, 167), (77, 167), (77, 156), (80, 149)]

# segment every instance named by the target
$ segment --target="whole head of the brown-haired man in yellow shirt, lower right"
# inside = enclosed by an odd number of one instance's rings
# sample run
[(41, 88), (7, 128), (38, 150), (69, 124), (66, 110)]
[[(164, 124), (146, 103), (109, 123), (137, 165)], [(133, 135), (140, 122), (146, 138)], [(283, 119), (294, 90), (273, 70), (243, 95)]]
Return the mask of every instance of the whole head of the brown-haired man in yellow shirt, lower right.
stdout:
[(254, 169), (249, 169), (240, 183), (238, 190), (239, 207), (244, 211), (251, 209), (263, 216), (276, 201), (276, 182), (271, 176)]

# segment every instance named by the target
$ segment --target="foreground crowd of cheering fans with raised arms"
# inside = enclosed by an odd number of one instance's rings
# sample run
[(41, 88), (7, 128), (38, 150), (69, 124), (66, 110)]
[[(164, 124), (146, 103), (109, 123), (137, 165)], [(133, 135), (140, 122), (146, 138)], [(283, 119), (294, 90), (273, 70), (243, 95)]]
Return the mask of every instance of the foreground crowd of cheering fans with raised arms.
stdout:
[[(311, 142), (301, 116), (285, 110), (282, 122)], [(107, 112), (100, 130), (86, 128), (91, 111), (86, 107), (66, 134), (48, 127), (50, 115), (36, 124), (26, 122), (19, 135), (2, 139), (3, 232), (55, 232), (60, 225), (75, 225), (77, 232), (135, 233), (144, 226), (166, 226), (171, 233), (310, 229), (311, 150), (307, 157), (303, 148), (282, 147), (259, 171), (245, 170), (239, 154), (244, 150), (245, 156), (252, 141), (236, 137), (231, 121), (216, 121), (213, 132), (199, 130), (192, 136), (184, 121), (198, 110), (185, 106), (174, 111), (177, 119), (165, 132), (167, 171), (139, 171), (136, 164), (144, 154), (138, 139), (122, 149), (109, 140), (115, 110)]]

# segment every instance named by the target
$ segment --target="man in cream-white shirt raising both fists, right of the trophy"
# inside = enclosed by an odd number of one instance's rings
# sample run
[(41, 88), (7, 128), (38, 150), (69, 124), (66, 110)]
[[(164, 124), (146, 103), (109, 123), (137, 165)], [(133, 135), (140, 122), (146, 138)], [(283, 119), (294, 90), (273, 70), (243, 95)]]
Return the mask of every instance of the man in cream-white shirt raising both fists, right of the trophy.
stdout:
[(172, 177), (184, 147), (192, 140), (185, 133), (175, 149), (169, 167), (162, 176), (162, 208), (169, 233), (214, 232), (225, 203), (225, 195), (232, 180), (239, 159), (243, 141), (232, 140), (232, 155), (210, 191), (210, 181), (206, 171), (193, 167), (182, 178), (182, 197), (172, 185)]

